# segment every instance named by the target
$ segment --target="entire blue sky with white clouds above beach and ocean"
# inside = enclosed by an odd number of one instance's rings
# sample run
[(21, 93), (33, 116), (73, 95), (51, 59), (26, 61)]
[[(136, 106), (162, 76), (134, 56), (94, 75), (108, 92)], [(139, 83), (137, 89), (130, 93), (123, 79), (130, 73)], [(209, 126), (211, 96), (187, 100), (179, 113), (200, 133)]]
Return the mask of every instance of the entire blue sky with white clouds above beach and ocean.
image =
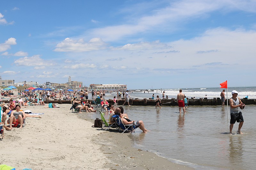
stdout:
[(256, 0), (0, 1), (3, 80), (256, 86)]

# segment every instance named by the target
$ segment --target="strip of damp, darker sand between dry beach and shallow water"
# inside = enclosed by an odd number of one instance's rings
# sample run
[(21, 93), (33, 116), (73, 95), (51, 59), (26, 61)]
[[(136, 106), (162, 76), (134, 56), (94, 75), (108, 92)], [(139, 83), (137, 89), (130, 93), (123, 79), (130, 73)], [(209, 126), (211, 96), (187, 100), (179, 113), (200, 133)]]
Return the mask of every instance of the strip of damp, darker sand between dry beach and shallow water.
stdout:
[[(98, 112), (96, 112), (98, 114)], [(86, 113), (78, 115), (79, 118), (94, 123)], [(100, 129), (100, 128), (93, 128)], [(110, 163), (105, 165), (104, 168), (110, 169), (184, 169), (192, 170), (194, 168), (184, 166), (178, 163), (173, 163), (170, 160), (158, 156), (156, 153), (143, 151), (139, 148), (132, 146), (132, 140), (129, 135), (131, 133), (119, 133), (116, 130), (99, 130), (102, 131), (95, 137), (95, 144), (100, 144), (101, 151), (106, 154)], [(136, 135), (140, 133), (137, 132)], [(149, 132), (150, 133), (150, 132)], [(147, 135), (147, 134), (141, 134)], [(111, 139), (111, 141), (108, 141)]]

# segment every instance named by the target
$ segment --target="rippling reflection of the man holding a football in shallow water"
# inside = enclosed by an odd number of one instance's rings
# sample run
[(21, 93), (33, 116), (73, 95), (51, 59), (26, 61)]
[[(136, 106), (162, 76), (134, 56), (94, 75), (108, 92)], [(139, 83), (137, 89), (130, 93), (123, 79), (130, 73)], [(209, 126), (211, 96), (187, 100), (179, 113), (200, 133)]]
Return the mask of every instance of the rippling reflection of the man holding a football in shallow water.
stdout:
[[(238, 137), (237, 137), (238, 136)], [(229, 139), (229, 162), (230, 164), (236, 164), (243, 162), (243, 136), (242, 135), (230, 135)]]

